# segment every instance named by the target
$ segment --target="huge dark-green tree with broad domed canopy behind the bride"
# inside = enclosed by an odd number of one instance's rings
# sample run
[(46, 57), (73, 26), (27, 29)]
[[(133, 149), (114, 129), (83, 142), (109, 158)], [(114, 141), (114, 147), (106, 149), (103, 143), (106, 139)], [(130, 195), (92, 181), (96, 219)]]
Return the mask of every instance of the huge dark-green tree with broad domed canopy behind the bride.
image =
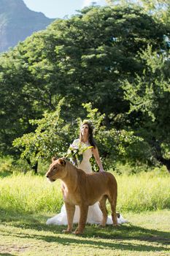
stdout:
[[(153, 50), (166, 48), (168, 31), (142, 8), (87, 7), (1, 55), (1, 151), (11, 152), (14, 138), (34, 132), (36, 124), (28, 120), (54, 111), (62, 97), (67, 122), (84, 118), (82, 102), (93, 102), (108, 129), (126, 129), (129, 103), (121, 82), (142, 75), (146, 64), (139, 50), (148, 43)], [(17, 128), (9, 129), (11, 124)]]

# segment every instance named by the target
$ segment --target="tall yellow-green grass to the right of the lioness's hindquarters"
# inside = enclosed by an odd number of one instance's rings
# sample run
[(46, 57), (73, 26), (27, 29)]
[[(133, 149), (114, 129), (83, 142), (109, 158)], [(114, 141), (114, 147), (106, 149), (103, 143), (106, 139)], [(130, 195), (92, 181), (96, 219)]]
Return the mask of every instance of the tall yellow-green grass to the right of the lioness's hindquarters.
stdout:
[(170, 176), (139, 173), (118, 176), (119, 211), (152, 211), (170, 208)]

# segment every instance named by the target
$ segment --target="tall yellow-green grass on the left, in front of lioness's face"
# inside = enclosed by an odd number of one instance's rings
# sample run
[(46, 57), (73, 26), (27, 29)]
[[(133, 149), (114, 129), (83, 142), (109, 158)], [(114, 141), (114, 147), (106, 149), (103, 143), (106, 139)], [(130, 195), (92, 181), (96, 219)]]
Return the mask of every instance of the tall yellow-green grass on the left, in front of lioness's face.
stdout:
[(60, 181), (50, 184), (45, 177), (31, 173), (0, 178), (0, 208), (29, 213), (55, 212), (62, 203)]

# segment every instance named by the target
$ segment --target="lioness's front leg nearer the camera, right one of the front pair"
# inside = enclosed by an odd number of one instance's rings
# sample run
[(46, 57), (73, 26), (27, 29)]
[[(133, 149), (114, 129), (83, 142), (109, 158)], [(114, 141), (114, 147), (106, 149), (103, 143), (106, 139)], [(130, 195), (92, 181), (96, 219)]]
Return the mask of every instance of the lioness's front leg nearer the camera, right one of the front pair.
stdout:
[(86, 220), (88, 217), (88, 206), (80, 206), (80, 219), (77, 229), (74, 231), (75, 235), (83, 233), (85, 229)]

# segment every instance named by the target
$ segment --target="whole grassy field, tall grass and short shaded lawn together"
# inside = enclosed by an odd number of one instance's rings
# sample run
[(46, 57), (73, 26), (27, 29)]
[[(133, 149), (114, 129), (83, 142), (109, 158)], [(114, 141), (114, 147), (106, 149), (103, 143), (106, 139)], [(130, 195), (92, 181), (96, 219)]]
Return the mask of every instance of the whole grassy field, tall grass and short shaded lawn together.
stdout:
[[(1, 176), (1, 173), (0, 173)], [(30, 173), (0, 178), (0, 255), (170, 255), (170, 176), (118, 176), (117, 211), (128, 223), (87, 225), (83, 236), (45, 225), (60, 211), (61, 184)]]

